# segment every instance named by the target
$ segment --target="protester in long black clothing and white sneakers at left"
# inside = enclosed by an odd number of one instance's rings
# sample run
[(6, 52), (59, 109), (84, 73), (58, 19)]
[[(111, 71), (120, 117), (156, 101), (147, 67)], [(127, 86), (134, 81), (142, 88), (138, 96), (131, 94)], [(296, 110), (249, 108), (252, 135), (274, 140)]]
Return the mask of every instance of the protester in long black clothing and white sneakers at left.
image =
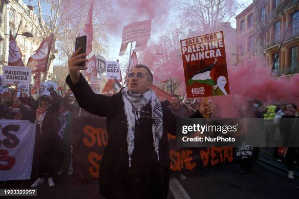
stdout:
[(43, 176), (49, 173), (48, 184), (54, 186), (54, 169), (60, 162), (62, 140), (58, 136), (60, 129), (59, 107), (60, 99), (53, 88), (50, 89), (51, 98), (43, 95), (36, 111), (37, 130), (34, 146), (34, 166), (37, 170), (38, 179), (31, 185), (37, 187), (43, 184)]

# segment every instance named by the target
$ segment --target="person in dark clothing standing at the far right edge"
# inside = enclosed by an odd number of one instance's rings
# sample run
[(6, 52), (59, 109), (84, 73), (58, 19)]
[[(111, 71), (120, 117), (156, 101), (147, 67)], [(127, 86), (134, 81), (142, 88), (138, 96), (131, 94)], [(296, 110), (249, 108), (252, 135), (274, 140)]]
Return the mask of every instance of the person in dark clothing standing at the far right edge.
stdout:
[(287, 146), (285, 158), (287, 162), (289, 179), (294, 179), (294, 160), (296, 148), (292, 146), (298, 144), (298, 129), (298, 113), (296, 113), (296, 109), (294, 108), (293, 104), (287, 103), (284, 115), (281, 116), (279, 122), (279, 130), (284, 134), (285, 139), (283, 145)]

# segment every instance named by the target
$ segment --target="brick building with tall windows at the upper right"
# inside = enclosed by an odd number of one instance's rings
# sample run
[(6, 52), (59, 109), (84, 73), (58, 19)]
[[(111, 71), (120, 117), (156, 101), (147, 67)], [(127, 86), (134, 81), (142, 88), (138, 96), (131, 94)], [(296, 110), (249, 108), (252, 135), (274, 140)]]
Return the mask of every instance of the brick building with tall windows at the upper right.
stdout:
[[(237, 58), (238, 66), (256, 67), (256, 56), (263, 58), (269, 68), (273, 68), (272, 76), (287, 76), (299, 72), (299, 7), (294, 12), (298, 0), (261, 0), (258, 9), (252, 3), (236, 16), (237, 27)], [(286, 2), (287, 1), (287, 2)], [(294, 12), (294, 14), (293, 14)], [(261, 43), (256, 43), (256, 24), (269, 26)], [(290, 24), (290, 25), (289, 25)], [(289, 26), (289, 27), (288, 27)], [(288, 27), (288, 30), (286, 31)], [(285, 39), (280, 43), (287, 32)], [(263, 49), (263, 55), (256, 55), (256, 45)], [(275, 61), (276, 60), (276, 61)]]

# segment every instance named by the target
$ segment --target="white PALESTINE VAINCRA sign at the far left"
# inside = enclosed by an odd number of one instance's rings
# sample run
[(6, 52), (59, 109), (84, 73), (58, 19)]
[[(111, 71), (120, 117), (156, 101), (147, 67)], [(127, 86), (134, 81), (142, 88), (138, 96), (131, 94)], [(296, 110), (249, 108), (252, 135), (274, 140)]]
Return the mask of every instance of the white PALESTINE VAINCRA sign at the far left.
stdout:
[(6, 84), (26, 84), (31, 81), (31, 68), (22, 66), (3, 66), (3, 82)]

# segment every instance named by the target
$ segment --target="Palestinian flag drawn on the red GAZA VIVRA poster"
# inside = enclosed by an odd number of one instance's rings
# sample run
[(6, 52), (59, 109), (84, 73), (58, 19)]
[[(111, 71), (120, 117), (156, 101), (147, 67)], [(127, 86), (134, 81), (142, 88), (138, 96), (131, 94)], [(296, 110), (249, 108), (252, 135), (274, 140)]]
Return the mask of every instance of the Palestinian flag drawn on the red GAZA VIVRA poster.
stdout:
[(188, 80), (188, 84), (192, 85), (195, 82), (198, 83), (205, 83), (211, 86), (214, 86), (217, 84), (217, 75), (215, 74), (217, 72), (216, 69), (216, 63), (217, 60), (214, 61), (213, 64), (205, 68), (204, 70), (197, 71), (194, 75), (190, 77), (190, 80)]

